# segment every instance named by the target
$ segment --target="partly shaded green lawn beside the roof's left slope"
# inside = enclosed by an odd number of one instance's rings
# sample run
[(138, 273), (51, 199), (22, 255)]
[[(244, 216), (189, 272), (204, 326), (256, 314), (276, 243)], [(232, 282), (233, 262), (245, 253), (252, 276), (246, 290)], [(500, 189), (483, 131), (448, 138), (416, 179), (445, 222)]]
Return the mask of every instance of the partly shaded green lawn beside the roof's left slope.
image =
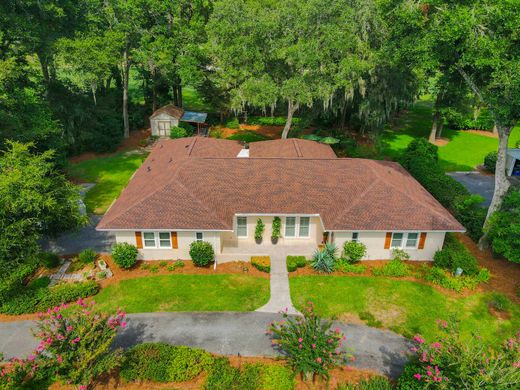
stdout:
[(85, 204), (89, 212), (103, 214), (119, 196), (145, 158), (145, 154), (123, 152), (110, 157), (98, 157), (71, 164), (67, 171), (71, 177), (96, 183), (96, 186), (87, 192)]

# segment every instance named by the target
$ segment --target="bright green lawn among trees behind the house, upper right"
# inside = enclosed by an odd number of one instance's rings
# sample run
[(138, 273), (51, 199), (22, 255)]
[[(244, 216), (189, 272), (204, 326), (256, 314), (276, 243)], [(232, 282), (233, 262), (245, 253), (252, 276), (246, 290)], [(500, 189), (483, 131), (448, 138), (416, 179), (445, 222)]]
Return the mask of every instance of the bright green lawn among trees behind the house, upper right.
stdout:
[[(422, 99), (401, 116), (382, 136), (382, 154), (395, 159), (417, 137), (428, 137), (432, 125), (432, 103)], [(439, 160), (446, 171), (471, 171), (484, 162), (484, 157), (498, 148), (498, 139), (445, 128), (444, 138), (450, 142), (439, 147)], [(509, 145), (520, 140), (520, 127), (513, 129)]]

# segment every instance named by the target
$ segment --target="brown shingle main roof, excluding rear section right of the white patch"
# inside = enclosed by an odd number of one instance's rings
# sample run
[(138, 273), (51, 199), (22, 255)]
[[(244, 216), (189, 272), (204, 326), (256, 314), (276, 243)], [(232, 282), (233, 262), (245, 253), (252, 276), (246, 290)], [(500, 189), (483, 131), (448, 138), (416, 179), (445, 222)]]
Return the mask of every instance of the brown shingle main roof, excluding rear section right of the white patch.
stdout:
[[(326, 230), (464, 230), (397, 163), (234, 158), (240, 144), (204, 138), (161, 144), (98, 229), (232, 230), (236, 213), (294, 213), (319, 214)], [(200, 155), (186, 158), (190, 147)]]

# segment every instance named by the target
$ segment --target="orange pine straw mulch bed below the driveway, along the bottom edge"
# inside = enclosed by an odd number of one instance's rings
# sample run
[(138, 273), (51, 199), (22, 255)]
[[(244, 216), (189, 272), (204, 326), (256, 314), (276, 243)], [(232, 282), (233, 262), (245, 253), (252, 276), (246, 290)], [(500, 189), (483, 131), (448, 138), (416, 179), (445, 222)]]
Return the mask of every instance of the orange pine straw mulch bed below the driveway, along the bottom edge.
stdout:
[[(268, 365), (284, 365), (284, 360), (281, 359), (273, 359), (266, 357), (237, 357), (237, 356), (225, 356), (229, 359), (231, 365), (233, 367), (241, 367), (244, 364), (251, 363), (262, 363)], [(198, 375), (191, 381), (180, 382), (180, 383), (155, 383), (155, 382), (144, 382), (144, 383), (123, 383), (117, 372), (113, 373), (106, 378), (103, 378), (97, 384), (94, 389), (97, 390), (141, 390), (141, 389), (150, 389), (150, 390), (163, 390), (163, 389), (183, 389), (183, 390), (195, 390), (201, 389), (205, 380), (206, 373), (202, 373)], [(330, 380), (327, 383), (326, 381), (316, 379), (314, 382), (305, 382), (301, 379), (299, 375), (296, 376), (296, 390), (326, 390), (326, 389), (334, 389), (339, 384), (354, 384), (358, 383), (363, 379), (368, 379), (374, 376), (378, 376), (374, 371), (370, 370), (361, 370), (355, 369), (349, 366), (346, 367), (338, 367), (334, 370), (330, 371)], [(49, 389), (50, 390), (68, 390), (70, 386), (55, 383)]]

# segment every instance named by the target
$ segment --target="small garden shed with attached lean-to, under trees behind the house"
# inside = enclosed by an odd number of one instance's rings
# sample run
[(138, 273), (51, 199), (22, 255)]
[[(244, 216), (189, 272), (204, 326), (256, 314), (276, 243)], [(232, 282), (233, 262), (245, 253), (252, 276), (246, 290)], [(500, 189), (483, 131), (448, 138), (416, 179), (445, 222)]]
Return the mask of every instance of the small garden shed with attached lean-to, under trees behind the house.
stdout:
[(186, 122), (193, 125), (197, 129), (198, 135), (206, 135), (206, 118), (208, 114), (205, 112), (184, 111), (183, 108), (173, 104), (155, 110), (150, 116), (150, 127), (152, 135), (158, 137), (169, 137), (172, 127), (178, 127), (180, 122)]

